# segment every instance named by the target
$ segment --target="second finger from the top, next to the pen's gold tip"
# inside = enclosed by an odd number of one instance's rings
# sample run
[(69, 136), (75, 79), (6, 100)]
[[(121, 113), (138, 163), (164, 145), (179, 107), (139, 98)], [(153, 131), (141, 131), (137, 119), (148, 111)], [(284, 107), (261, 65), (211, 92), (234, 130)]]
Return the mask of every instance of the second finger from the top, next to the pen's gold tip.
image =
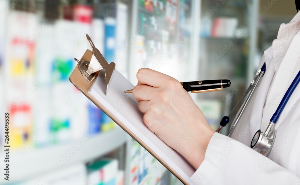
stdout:
[(133, 88), (132, 94), (134, 98), (140, 102), (142, 100), (149, 101), (153, 98), (153, 94), (156, 93), (157, 89), (149, 85), (136, 85)]

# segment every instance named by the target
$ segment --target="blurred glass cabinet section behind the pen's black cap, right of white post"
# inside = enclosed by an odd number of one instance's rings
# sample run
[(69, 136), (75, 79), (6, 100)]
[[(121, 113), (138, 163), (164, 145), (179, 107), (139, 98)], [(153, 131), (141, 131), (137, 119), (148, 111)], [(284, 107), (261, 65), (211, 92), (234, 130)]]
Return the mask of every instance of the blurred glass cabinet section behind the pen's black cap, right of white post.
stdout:
[[(231, 87), (220, 92), (198, 94), (196, 100), (215, 130), (256, 72), (258, 3), (258, 0), (201, 1), (199, 73), (202, 79), (231, 81)], [(221, 133), (227, 135), (229, 127), (223, 128)]]

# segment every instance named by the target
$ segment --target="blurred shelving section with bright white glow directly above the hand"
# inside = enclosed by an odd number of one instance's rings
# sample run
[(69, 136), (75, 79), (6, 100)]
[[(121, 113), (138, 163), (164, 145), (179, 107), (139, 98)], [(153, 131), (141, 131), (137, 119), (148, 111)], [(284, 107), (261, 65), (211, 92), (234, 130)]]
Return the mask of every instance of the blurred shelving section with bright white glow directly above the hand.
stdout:
[(129, 79), (137, 82), (134, 74), (142, 67), (185, 81), (194, 78), (199, 12), (199, 1), (133, 0)]

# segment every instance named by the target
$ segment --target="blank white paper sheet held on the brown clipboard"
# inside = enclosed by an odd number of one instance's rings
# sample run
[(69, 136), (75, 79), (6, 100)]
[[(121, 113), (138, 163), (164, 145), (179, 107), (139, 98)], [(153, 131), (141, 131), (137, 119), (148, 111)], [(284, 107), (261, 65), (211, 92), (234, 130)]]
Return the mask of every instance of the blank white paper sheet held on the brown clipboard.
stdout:
[(134, 85), (117, 70), (114, 70), (107, 95), (105, 95), (106, 87), (107, 84), (104, 81), (104, 77), (99, 75), (91, 86), (89, 93), (143, 140), (146, 145), (167, 162), (184, 180), (189, 184), (193, 184), (189, 177), (193, 175), (195, 169), (179, 153), (169, 147), (144, 125), (143, 113), (138, 109), (137, 101), (132, 94), (123, 92), (132, 89)]

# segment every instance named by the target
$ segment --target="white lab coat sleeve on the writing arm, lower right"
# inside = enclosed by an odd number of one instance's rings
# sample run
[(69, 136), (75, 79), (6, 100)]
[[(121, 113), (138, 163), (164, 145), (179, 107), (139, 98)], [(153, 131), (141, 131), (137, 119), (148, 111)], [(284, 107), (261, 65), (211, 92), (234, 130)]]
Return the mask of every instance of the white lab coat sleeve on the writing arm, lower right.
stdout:
[(219, 133), (211, 137), (204, 161), (190, 178), (195, 185), (300, 184), (291, 171)]

